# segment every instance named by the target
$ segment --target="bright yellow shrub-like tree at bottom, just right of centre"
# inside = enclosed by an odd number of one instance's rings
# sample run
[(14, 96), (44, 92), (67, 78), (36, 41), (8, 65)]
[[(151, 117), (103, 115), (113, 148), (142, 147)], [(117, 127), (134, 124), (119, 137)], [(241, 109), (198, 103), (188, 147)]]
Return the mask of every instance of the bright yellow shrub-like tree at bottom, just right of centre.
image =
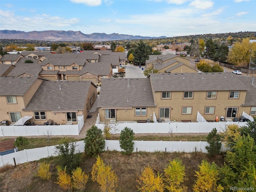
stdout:
[(163, 192), (164, 183), (163, 178), (158, 173), (154, 174), (153, 169), (148, 165), (142, 171), (140, 177), (137, 179), (139, 186), (138, 190), (143, 192)]

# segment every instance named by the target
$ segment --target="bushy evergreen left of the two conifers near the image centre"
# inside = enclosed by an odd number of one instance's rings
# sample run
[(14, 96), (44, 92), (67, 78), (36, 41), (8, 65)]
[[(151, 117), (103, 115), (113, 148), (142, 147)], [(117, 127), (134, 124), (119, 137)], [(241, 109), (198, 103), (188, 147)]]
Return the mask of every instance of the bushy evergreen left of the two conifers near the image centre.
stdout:
[(105, 148), (105, 141), (102, 136), (102, 130), (96, 126), (88, 129), (84, 138), (84, 151), (92, 157), (96, 157)]

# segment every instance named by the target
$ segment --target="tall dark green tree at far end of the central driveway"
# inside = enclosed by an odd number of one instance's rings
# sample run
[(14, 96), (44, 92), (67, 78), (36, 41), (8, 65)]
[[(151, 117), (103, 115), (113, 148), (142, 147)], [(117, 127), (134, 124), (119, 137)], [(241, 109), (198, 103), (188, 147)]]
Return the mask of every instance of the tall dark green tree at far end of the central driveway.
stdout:
[(134, 50), (134, 64), (144, 65), (146, 60), (149, 59), (149, 55), (152, 52), (152, 48), (144, 43), (142, 40), (139, 41), (138, 46)]

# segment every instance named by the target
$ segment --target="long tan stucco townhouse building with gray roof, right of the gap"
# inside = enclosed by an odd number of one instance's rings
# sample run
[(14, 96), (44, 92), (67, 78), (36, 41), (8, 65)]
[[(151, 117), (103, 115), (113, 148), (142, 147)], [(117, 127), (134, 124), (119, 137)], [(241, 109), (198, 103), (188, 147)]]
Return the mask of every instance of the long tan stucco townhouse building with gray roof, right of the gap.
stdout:
[[(100, 121), (152, 120), (151, 115), (155, 114), (166, 122), (193, 122), (198, 112), (213, 121), (216, 116), (239, 118), (243, 112), (255, 116), (255, 95), (252, 77), (232, 73), (158, 73), (150, 74), (145, 82), (103, 81), (98, 107)], [(136, 104), (131, 105), (131, 100)]]

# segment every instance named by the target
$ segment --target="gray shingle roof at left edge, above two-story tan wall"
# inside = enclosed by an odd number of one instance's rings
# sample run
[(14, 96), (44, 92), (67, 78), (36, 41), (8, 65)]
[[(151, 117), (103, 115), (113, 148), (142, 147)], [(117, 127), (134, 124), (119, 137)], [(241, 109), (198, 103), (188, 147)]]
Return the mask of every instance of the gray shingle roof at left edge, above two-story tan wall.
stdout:
[(24, 95), (38, 77), (1, 77), (0, 96)]

